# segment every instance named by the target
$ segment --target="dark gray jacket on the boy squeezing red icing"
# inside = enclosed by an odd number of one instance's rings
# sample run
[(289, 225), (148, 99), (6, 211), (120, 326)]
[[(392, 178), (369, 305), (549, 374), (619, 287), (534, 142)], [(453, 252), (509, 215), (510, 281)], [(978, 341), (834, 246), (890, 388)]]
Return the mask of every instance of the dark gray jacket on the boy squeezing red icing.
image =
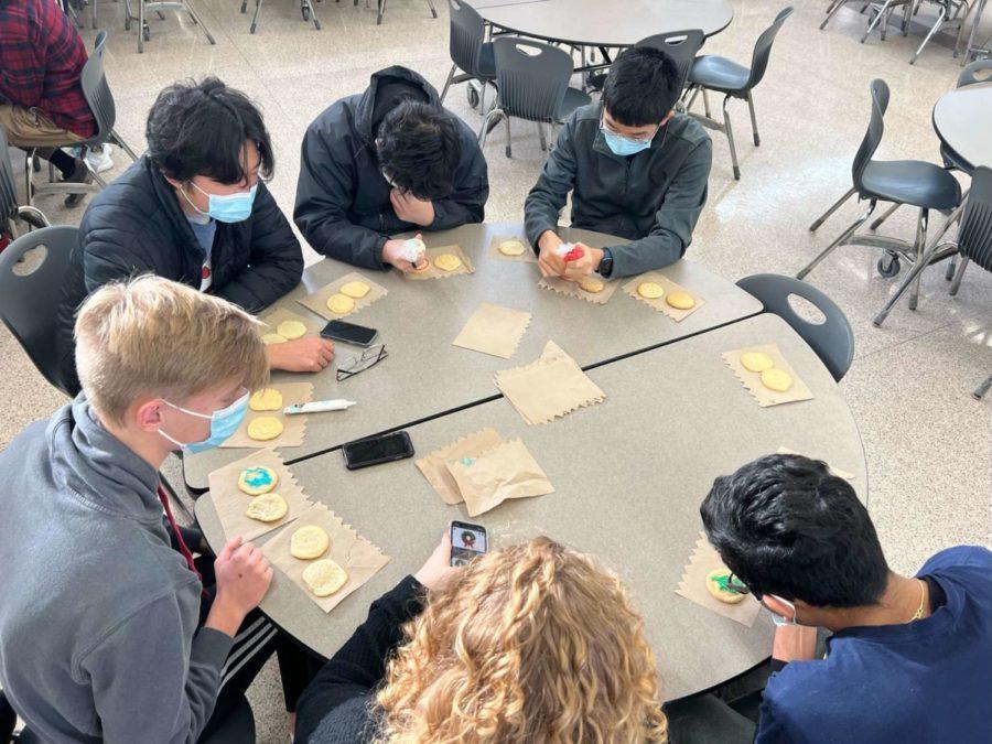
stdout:
[(600, 131), (602, 107), (578, 109), (562, 128), (524, 216), (532, 245), (558, 216), (572, 192), (572, 226), (608, 233), (632, 242), (608, 246), (614, 277), (659, 269), (679, 260), (707, 202), (712, 162), (710, 136), (677, 114), (651, 147), (630, 158), (613, 154)]

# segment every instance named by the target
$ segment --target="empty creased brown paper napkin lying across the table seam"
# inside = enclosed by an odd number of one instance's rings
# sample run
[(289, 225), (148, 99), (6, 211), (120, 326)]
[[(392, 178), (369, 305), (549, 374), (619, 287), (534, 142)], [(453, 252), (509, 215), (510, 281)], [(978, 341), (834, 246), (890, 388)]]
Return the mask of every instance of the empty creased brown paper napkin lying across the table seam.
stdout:
[(548, 423), (606, 399), (595, 382), (553, 341), (522, 367), (496, 373), (496, 387), (529, 424)]

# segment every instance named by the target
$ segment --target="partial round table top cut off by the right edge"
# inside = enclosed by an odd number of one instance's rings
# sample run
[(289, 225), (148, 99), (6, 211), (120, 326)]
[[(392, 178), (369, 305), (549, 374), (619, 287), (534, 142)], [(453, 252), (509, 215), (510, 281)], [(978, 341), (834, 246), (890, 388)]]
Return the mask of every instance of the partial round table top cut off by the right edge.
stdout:
[(992, 168), (992, 80), (944, 94), (934, 106), (934, 129), (972, 169)]

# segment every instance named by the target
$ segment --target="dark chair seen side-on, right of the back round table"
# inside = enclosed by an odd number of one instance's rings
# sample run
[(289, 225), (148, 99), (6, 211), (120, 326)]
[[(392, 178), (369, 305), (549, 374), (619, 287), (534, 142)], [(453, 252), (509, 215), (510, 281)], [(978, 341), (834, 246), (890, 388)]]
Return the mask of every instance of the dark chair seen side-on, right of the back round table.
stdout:
[[(751, 129), (754, 133), (754, 145), (762, 143), (762, 138), (757, 131), (757, 117), (754, 114), (754, 97), (751, 91), (765, 77), (765, 71), (768, 68), (768, 55), (772, 53), (772, 42), (778, 35), (781, 24), (792, 14), (792, 8), (785, 8), (779, 11), (767, 29), (758, 36), (754, 45), (754, 53), (751, 56), (751, 68), (738, 65), (732, 60), (720, 57), (713, 54), (704, 54), (697, 57), (689, 71), (689, 88), (686, 96), (689, 101), (686, 104), (686, 111), (692, 108), (696, 96), (702, 91), (703, 106), (705, 106), (705, 116), (693, 114), (692, 116), (710, 129), (715, 129), (726, 134), (726, 141), (730, 143), (731, 161), (734, 165), (734, 179), (740, 180), (741, 168), (737, 165), (737, 149), (734, 145), (734, 130), (731, 127), (730, 115), (726, 112), (726, 105), (731, 98), (741, 98), (747, 101), (747, 108), (751, 111)], [(724, 94), (723, 96), (723, 123), (715, 121), (710, 116), (710, 101), (707, 98), (707, 90), (714, 90)]]

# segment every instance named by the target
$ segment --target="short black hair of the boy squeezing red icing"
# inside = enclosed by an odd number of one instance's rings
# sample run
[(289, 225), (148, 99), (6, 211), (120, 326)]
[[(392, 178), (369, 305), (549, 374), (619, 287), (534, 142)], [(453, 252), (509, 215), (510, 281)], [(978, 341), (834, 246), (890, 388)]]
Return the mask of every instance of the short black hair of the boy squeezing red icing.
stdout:
[(656, 125), (682, 91), (679, 68), (661, 50), (632, 46), (617, 56), (603, 84), (603, 106), (625, 127)]

